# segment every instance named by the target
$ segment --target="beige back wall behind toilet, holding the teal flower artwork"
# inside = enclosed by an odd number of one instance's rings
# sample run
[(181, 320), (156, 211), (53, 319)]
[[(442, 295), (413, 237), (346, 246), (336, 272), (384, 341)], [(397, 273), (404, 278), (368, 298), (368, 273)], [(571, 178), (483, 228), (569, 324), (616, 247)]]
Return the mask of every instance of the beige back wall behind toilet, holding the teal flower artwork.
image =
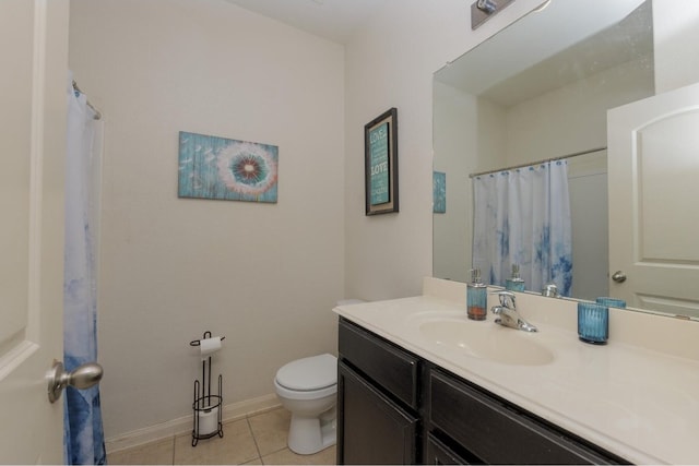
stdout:
[[(225, 335), (224, 403), (336, 351), (344, 297), (344, 49), (223, 0), (72, 0), (70, 68), (105, 119), (105, 432), (191, 414)], [(279, 203), (177, 198), (178, 131), (279, 146)]]

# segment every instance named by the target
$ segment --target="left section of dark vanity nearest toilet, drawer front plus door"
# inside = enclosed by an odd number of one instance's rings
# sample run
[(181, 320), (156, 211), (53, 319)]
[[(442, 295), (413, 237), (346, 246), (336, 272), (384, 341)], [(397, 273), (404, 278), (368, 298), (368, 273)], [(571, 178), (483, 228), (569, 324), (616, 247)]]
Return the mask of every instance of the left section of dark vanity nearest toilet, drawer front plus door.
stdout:
[(419, 358), (345, 321), (337, 361), (337, 464), (416, 464)]

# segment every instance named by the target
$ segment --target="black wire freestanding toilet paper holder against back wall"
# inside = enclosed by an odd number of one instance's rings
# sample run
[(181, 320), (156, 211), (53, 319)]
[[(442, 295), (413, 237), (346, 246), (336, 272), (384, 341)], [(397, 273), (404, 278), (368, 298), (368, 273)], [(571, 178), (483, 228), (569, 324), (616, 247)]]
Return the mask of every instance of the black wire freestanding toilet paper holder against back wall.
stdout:
[[(202, 339), (211, 338), (211, 332), (204, 332)], [(222, 336), (221, 339), (225, 339)], [(202, 346), (202, 339), (189, 342), (190, 346)], [(202, 349), (203, 354), (203, 349)], [(211, 354), (202, 357), (201, 361), (201, 383), (194, 381), (194, 428), (192, 430), (192, 446), (201, 439), (211, 439), (214, 435), (223, 438), (223, 377), (218, 374), (218, 394), (211, 394)]]

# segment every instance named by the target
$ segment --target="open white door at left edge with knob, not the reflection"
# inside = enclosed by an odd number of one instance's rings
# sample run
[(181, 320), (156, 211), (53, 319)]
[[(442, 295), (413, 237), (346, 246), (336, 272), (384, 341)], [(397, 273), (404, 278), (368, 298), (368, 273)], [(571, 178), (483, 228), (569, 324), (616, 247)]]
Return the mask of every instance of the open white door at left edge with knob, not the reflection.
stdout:
[[(0, 0), (0, 463), (60, 464), (67, 0)], [(61, 398), (62, 402), (62, 398)]]

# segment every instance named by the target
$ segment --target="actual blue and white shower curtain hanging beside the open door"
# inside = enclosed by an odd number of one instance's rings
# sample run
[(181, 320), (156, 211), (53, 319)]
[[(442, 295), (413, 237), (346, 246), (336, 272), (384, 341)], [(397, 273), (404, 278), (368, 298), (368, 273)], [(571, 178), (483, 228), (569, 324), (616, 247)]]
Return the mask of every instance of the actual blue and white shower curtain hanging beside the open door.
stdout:
[[(71, 371), (97, 361), (97, 277), (95, 230), (99, 127), (85, 95), (68, 85), (66, 159), (66, 251), (63, 278), (63, 363)], [(66, 464), (105, 464), (99, 385), (66, 389), (63, 451)]]

